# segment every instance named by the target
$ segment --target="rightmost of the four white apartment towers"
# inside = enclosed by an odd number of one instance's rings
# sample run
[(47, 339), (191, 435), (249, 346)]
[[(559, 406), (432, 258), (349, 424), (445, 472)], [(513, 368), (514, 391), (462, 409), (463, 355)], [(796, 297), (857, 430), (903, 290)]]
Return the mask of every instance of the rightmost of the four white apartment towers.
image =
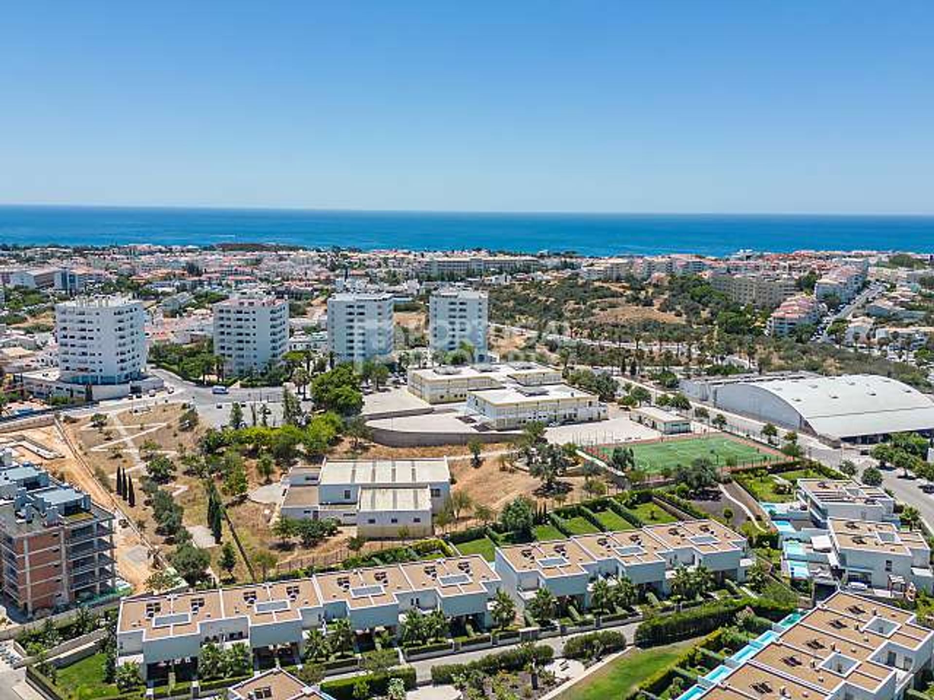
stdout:
[(470, 343), (474, 361), (486, 361), (487, 293), (459, 287), (438, 289), (429, 301), (429, 328), (432, 352), (447, 353), (457, 350), (460, 343)]

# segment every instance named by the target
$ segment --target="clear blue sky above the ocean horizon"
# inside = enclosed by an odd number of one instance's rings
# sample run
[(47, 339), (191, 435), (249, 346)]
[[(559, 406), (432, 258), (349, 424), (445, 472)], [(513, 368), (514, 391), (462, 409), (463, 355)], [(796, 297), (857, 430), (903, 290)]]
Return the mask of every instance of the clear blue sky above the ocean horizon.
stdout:
[(0, 202), (934, 213), (934, 2), (10, 3)]

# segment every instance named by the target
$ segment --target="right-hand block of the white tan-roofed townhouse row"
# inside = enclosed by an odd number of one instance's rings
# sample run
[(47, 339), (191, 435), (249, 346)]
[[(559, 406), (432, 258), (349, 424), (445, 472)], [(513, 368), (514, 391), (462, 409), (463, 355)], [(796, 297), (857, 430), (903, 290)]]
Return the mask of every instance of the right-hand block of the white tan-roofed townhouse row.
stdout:
[(752, 563), (742, 535), (708, 520), (517, 544), (497, 548), (495, 554), (496, 572), (520, 603), (547, 588), (584, 608), (597, 578), (626, 577), (667, 594), (678, 567), (702, 565), (718, 580), (744, 581)]

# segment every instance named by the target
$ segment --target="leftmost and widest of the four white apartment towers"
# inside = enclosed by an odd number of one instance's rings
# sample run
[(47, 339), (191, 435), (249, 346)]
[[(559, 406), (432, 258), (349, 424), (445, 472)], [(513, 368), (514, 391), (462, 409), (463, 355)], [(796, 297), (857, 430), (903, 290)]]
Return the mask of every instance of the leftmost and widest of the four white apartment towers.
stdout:
[(146, 365), (146, 312), (129, 297), (79, 297), (55, 305), (59, 371), (64, 382), (120, 385)]

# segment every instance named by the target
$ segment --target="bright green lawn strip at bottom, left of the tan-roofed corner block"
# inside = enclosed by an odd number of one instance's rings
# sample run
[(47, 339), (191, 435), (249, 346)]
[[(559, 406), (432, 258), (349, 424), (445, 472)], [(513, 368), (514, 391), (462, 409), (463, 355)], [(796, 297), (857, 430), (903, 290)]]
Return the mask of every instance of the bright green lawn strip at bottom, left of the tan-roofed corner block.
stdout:
[(632, 649), (612, 664), (603, 666), (580, 682), (574, 683), (558, 700), (606, 700), (626, 697), (644, 679), (672, 665), (696, 640), (687, 639), (667, 647)]

